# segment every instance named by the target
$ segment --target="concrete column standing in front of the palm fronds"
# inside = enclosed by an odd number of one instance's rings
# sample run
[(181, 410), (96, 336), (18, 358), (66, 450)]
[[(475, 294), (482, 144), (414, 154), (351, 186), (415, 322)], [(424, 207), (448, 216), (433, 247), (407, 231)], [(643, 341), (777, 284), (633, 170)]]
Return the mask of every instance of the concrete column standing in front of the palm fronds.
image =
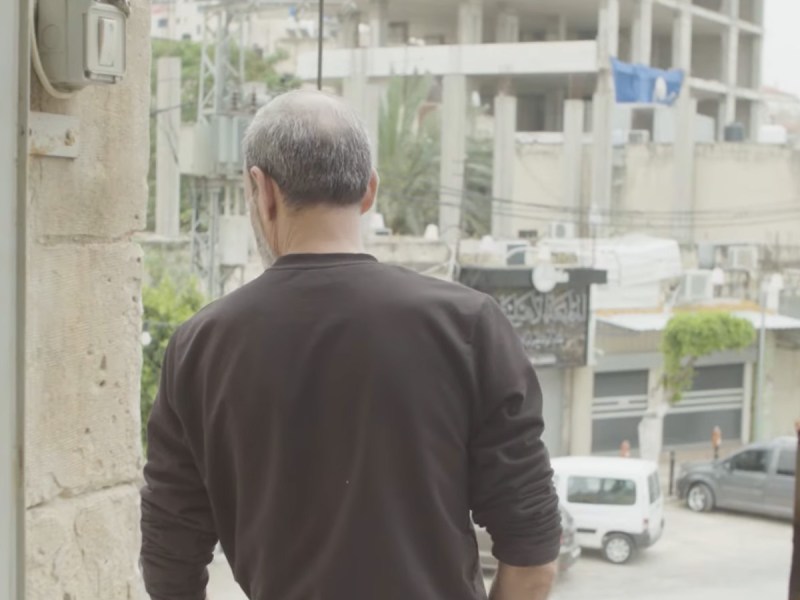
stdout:
[(445, 75), (442, 80), (442, 150), (439, 183), (439, 232), (456, 241), (461, 231), (464, 165), (467, 158), (467, 78)]

